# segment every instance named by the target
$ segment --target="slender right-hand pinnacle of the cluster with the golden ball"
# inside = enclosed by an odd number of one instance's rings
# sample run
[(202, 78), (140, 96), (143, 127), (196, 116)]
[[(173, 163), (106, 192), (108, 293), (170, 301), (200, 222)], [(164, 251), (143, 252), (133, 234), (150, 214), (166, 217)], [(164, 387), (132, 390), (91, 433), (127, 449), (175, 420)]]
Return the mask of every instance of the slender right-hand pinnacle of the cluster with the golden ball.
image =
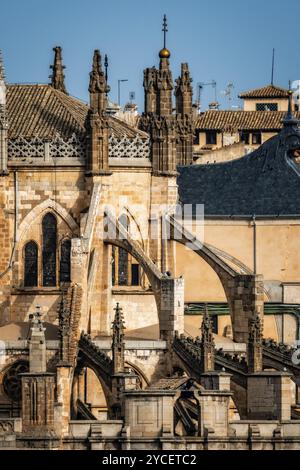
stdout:
[(188, 64), (181, 64), (181, 75), (176, 80), (177, 164), (193, 162), (193, 88)]

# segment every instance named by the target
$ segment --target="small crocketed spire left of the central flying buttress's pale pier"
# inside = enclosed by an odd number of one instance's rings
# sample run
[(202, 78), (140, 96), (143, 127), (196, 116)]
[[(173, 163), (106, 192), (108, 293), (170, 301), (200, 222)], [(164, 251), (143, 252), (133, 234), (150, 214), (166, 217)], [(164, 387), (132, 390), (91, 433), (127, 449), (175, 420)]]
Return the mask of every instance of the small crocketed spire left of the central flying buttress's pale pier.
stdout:
[(113, 353), (113, 371), (114, 374), (124, 372), (125, 362), (125, 340), (124, 331), (125, 323), (122, 309), (117, 303), (115, 310), (115, 318), (112, 323), (112, 353)]

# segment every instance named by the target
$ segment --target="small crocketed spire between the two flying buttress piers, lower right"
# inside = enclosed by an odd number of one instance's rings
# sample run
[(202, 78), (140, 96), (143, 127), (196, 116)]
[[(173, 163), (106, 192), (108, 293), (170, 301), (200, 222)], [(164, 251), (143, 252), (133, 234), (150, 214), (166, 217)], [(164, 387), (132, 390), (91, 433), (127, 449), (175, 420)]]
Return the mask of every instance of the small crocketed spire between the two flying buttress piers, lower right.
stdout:
[(215, 341), (212, 331), (212, 321), (208, 313), (207, 305), (204, 308), (201, 325), (201, 372), (213, 372), (215, 370)]

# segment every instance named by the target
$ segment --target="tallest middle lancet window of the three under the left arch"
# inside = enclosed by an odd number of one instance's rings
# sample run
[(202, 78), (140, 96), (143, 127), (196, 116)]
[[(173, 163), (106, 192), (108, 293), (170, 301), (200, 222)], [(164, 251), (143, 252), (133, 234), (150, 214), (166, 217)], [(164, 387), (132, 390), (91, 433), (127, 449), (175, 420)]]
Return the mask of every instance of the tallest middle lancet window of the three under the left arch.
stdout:
[(57, 223), (54, 215), (43, 218), (43, 286), (56, 286)]

